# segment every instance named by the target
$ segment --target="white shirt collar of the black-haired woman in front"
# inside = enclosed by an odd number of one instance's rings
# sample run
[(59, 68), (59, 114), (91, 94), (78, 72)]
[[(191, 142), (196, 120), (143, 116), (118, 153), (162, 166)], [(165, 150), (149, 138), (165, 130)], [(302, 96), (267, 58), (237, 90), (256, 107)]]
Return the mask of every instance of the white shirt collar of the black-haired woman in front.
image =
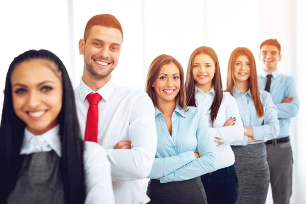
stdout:
[[(60, 125), (56, 125), (53, 129), (47, 131), (42, 135), (34, 135), (27, 128), (24, 129), (24, 136), (22, 141), (22, 149), (27, 149), (33, 145), (32, 143), (36, 143), (36, 139), (44, 139), (46, 143), (56, 152), (56, 154), (61, 157), (61, 140), (60, 140)], [(38, 138), (40, 137), (40, 138)]]

